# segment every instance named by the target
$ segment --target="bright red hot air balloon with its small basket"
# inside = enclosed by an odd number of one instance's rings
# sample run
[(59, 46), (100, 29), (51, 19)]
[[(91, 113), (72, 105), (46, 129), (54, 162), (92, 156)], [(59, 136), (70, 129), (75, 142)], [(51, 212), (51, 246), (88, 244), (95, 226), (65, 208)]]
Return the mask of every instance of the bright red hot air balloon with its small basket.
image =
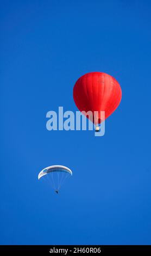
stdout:
[(92, 115), (86, 117), (95, 125), (103, 121), (100, 111), (105, 111), (105, 119), (108, 118), (118, 107), (121, 98), (122, 90), (119, 83), (114, 77), (102, 72), (91, 72), (81, 76), (73, 88), (75, 105), (81, 112), (91, 111)]

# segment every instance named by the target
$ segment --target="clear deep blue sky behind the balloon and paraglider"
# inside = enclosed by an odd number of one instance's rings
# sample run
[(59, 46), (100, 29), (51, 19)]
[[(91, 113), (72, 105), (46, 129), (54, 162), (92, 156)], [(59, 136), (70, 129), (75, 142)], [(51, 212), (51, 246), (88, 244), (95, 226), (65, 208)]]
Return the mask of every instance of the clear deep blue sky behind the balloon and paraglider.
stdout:
[[(1, 1), (0, 243), (151, 244), (150, 1)], [(76, 111), (86, 72), (122, 87), (92, 131), (47, 131), (46, 113)], [(37, 180), (62, 164), (56, 195)]]

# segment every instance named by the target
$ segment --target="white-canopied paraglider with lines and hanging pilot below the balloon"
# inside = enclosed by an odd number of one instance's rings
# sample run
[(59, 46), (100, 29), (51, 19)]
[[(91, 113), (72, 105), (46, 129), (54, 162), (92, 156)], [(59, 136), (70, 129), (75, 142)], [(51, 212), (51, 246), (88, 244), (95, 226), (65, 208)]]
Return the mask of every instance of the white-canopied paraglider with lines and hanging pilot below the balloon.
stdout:
[(42, 177), (45, 178), (49, 184), (52, 185), (56, 194), (59, 193), (60, 187), (64, 184), (65, 180), (72, 175), (71, 169), (65, 166), (49, 166), (41, 170), (38, 175), (40, 180)]

